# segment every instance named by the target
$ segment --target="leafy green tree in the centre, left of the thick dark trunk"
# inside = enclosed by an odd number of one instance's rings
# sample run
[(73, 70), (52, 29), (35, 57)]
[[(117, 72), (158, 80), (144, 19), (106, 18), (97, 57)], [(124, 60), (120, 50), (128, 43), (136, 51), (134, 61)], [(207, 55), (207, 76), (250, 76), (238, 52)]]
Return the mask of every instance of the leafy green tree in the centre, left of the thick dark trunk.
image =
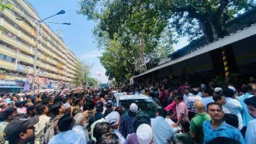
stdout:
[(100, 62), (110, 79), (125, 81), (135, 71), (145, 71), (150, 60), (172, 50), (173, 41), (160, 41), (163, 33), (171, 33), (171, 29), (165, 29), (167, 19), (150, 10), (150, 3), (92, 0), (79, 4), (78, 13), (97, 22), (94, 35), (98, 47), (105, 50)]

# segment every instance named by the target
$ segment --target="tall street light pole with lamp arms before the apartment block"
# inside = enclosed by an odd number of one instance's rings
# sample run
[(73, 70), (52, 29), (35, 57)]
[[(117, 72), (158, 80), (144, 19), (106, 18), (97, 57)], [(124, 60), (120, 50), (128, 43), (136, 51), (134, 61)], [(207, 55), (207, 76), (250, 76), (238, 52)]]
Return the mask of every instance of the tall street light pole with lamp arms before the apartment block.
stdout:
[[(54, 14), (53, 16), (56, 16), (58, 14), (64, 14), (65, 10), (60, 10), (60, 12)], [(47, 20), (49, 18), (52, 18), (53, 16), (49, 16), (47, 18), (44, 18), (43, 20), (36, 21), (35, 19), (32, 20), (26, 20), (26, 19), (19, 19), (16, 18), (16, 20), (22, 20), (22, 21), (33, 21), (37, 25), (37, 37), (36, 37), (36, 45), (35, 45), (35, 58), (34, 58), (34, 63), (33, 63), (33, 79), (32, 79), (32, 92), (35, 92), (35, 77), (36, 77), (36, 66), (37, 66), (37, 50), (39, 48), (39, 34), (40, 34), (40, 29), (41, 29), (41, 23), (43, 23), (44, 20)], [(58, 22), (45, 22), (45, 23), (51, 23), (51, 24), (64, 24), (64, 25), (71, 25), (70, 23), (58, 23)]]

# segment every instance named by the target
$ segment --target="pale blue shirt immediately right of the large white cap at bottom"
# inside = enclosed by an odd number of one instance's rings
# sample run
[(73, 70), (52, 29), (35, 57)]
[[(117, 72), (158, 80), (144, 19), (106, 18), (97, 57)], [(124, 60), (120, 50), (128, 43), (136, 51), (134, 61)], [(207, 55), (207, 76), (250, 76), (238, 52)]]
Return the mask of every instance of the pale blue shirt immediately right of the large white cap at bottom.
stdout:
[(155, 144), (167, 143), (167, 139), (172, 140), (174, 137), (173, 128), (163, 117), (152, 118), (151, 127)]

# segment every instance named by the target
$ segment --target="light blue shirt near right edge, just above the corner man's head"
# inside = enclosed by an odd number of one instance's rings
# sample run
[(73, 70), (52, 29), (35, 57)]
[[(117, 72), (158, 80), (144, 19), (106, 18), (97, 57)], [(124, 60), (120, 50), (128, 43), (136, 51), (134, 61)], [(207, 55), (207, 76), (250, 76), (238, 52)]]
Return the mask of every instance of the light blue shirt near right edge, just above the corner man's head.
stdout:
[(253, 120), (253, 118), (251, 117), (251, 115), (249, 115), (248, 113), (248, 108), (247, 105), (244, 103), (244, 100), (247, 98), (252, 97), (253, 95), (249, 94), (249, 93), (245, 93), (245, 95), (240, 96), (238, 98), (238, 101), (241, 103), (241, 105), (243, 106), (243, 111), (242, 111), (242, 118), (243, 118), (243, 124), (244, 126), (247, 126), (248, 122), (250, 120)]

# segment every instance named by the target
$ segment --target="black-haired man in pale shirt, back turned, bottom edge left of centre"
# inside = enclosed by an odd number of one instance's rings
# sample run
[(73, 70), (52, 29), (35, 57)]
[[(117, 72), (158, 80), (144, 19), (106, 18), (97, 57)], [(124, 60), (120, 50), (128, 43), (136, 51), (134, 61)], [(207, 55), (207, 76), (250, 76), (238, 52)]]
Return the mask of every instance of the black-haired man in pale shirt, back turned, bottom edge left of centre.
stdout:
[(70, 143), (70, 144), (84, 144), (86, 141), (83, 137), (77, 134), (74, 130), (70, 130), (72, 126), (72, 116), (68, 113), (58, 120), (58, 129), (60, 133), (55, 135), (49, 144), (55, 143)]

